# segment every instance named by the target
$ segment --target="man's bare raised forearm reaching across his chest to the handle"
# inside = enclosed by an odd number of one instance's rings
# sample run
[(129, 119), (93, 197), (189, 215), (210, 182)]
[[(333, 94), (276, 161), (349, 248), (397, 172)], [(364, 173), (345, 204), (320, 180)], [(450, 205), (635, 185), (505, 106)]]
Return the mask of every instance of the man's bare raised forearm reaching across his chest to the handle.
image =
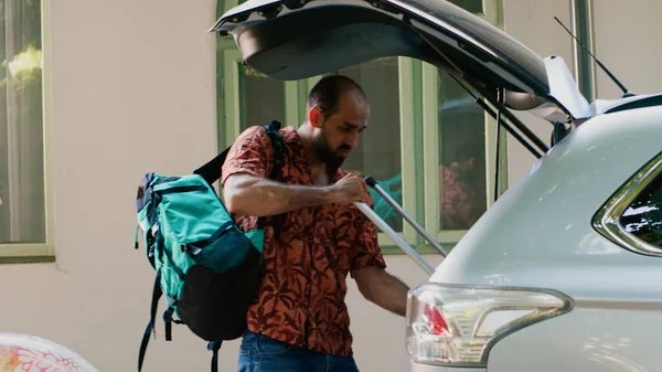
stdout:
[(289, 211), (330, 203), (328, 187), (285, 184), (250, 176), (239, 176), (227, 188), (232, 196), (225, 200), (231, 213), (241, 215), (277, 215)]

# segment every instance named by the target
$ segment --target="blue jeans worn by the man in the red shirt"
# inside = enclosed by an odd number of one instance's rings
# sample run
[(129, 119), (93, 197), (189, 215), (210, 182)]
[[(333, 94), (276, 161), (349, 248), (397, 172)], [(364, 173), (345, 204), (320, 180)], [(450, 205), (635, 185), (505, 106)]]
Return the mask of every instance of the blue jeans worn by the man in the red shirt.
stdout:
[(239, 372), (359, 372), (353, 357), (310, 351), (246, 331), (239, 347)]

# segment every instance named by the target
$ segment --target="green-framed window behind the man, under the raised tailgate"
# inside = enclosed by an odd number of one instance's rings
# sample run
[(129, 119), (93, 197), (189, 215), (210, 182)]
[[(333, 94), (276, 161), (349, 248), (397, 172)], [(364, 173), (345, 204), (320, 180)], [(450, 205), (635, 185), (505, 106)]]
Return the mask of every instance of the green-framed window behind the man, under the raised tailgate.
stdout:
[[(453, 1), (495, 23), (495, 2)], [(236, 2), (225, 1), (225, 10)], [(221, 2), (220, 2), (221, 7)], [(321, 78), (281, 82), (242, 63), (232, 41), (220, 42), (223, 55), (218, 99), (220, 148), (242, 130), (268, 120), (297, 127), (306, 118), (306, 97)], [(456, 81), (435, 66), (408, 57), (384, 57), (324, 75), (356, 81), (371, 103), (369, 129), (343, 169), (372, 176), (428, 233), (457, 243), (493, 202), (496, 126)], [(502, 137), (502, 139), (504, 139)], [(500, 184), (508, 185), (502, 141)], [(502, 167), (502, 168), (501, 168)], [(410, 245), (426, 252), (425, 241), (371, 189), (375, 212)], [(402, 253), (380, 233), (386, 253)]]

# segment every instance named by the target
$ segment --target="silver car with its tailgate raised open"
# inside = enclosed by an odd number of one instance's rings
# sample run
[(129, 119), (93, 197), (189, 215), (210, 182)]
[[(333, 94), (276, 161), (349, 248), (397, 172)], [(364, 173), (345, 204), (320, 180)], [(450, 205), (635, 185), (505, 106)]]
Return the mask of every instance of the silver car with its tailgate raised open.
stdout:
[[(362, 206), (434, 272), (409, 291), (413, 371), (662, 370), (662, 95), (589, 104), (560, 57), (447, 1), (252, 0), (212, 30), (280, 79), (391, 55), (434, 64), (540, 158), (436, 269)], [(549, 121), (552, 147), (513, 110)]]

